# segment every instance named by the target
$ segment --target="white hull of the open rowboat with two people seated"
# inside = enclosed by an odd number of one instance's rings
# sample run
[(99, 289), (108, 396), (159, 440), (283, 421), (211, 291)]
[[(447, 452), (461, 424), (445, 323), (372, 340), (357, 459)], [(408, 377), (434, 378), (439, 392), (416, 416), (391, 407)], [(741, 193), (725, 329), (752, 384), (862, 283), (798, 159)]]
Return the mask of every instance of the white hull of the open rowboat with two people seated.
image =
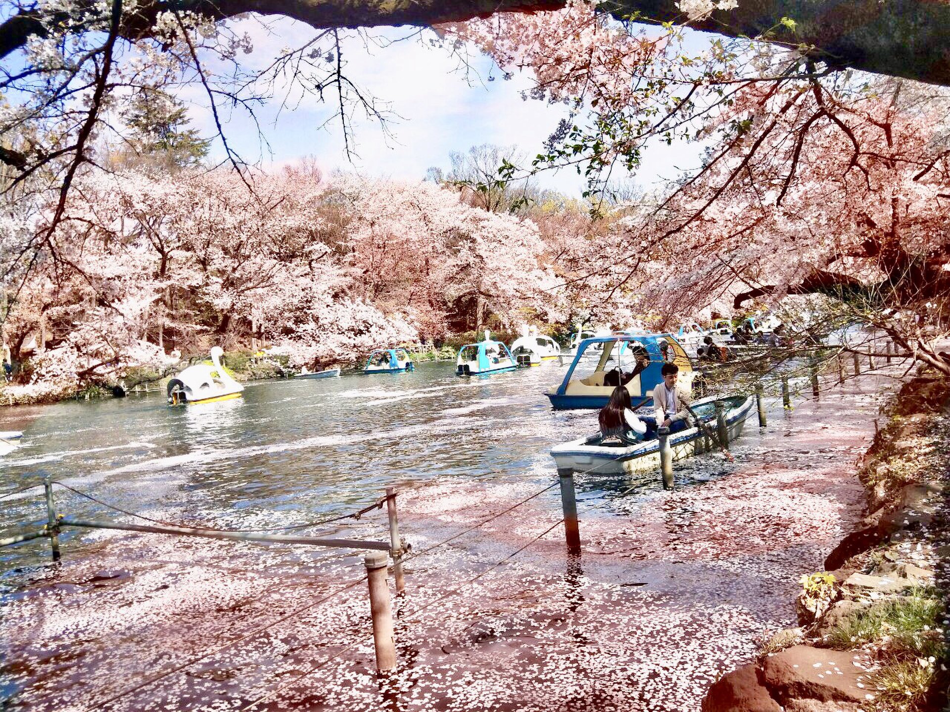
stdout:
[[(726, 425), (730, 441), (742, 435), (746, 419), (754, 405), (755, 397), (749, 396), (740, 405), (727, 411)], [(707, 426), (715, 433), (715, 422), (707, 423)], [(585, 440), (581, 438), (564, 442), (551, 450), (551, 457), (559, 470), (618, 474), (644, 472), (659, 466), (659, 440), (646, 440), (629, 447), (588, 445)], [(673, 459), (692, 458), (700, 453), (717, 451), (715, 442), (710, 440), (712, 439), (694, 427), (674, 433), (669, 440)]]

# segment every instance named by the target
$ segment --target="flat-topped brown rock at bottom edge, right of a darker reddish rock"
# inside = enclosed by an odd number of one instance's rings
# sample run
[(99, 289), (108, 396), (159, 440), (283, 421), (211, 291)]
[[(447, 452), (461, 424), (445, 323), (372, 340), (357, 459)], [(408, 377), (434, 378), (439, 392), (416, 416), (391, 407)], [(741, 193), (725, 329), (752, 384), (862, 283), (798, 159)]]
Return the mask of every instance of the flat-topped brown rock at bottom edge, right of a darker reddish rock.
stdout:
[(851, 652), (794, 646), (766, 658), (761, 680), (781, 704), (790, 700), (864, 703), (871, 699), (864, 685), (864, 669), (854, 665)]

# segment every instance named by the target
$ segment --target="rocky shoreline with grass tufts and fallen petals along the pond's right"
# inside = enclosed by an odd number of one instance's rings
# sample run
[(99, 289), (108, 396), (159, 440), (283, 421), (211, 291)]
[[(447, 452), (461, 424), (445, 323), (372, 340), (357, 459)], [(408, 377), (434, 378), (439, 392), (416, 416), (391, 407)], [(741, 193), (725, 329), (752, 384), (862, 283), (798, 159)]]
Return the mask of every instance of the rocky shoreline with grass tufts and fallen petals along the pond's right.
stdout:
[(803, 576), (798, 628), (712, 685), (702, 712), (919, 712), (946, 703), (950, 386), (925, 376), (889, 404), (859, 470), (860, 528)]

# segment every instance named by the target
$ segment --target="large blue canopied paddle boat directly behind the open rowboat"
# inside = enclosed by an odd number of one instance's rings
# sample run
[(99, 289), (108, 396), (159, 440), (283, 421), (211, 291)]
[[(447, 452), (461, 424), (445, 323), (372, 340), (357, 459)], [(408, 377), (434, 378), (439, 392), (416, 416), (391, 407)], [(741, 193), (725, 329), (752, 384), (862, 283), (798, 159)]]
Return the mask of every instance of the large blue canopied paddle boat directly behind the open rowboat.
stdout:
[[(625, 384), (634, 409), (648, 405), (653, 401), (654, 386), (663, 380), (660, 368), (664, 362), (660, 347), (664, 343), (672, 349), (672, 363), (679, 366), (679, 387), (685, 393), (692, 392), (696, 372), (673, 334), (619, 332), (580, 342), (561, 385), (544, 395), (551, 400), (555, 410), (602, 408), (619, 384), (616, 371), (635, 371), (636, 375)], [(592, 359), (585, 358), (590, 353), (599, 356), (596, 365)], [(616, 382), (608, 376), (611, 371), (615, 371), (612, 375), (617, 378)]]

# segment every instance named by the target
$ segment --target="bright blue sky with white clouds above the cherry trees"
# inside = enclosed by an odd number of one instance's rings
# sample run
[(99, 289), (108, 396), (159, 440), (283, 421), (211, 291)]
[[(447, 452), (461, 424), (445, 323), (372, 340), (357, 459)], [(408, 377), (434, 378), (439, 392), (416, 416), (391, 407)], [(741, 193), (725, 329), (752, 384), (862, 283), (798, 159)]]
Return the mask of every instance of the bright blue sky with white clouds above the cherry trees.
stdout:
[[(247, 31), (254, 43), (254, 52), (241, 58), (242, 64), (268, 64), (281, 47), (297, 47), (314, 36), (313, 28), (291, 20), (267, 22), (266, 29), (257, 19), (245, 20), (238, 27), (239, 31)], [(373, 33), (394, 40), (412, 31), (383, 28)], [(355, 121), (358, 159), (352, 164), (343, 150), (339, 121), (319, 128), (332, 116), (332, 106), (312, 96), (295, 103), (294, 110), (278, 113), (276, 101), (257, 110), (270, 150), (261, 145), (253, 122), (239, 110), (225, 114), (228, 141), (245, 159), (259, 161), (264, 168), (313, 155), (326, 172), (342, 168), (368, 176), (405, 179), (424, 178), (429, 166), (447, 168), (450, 152), (482, 143), (514, 144), (529, 157), (539, 153), (542, 142), (561, 118), (568, 116), (567, 107), (524, 100), (522, 92), (530, 88), (530, 78), (516, 74), (505, 81), (502, 72), (474, 50), (470, 54), (471, 68), (460, 70), (458, 60), (447, 49), (428, 45), (432, 37), (434, 34), (427, 30), (422, 41), (410, 39), (369, 50), (357, 39), (344, 44), (342, 56), (348, 76), (362, 89), (390, 103), (392, 112), (401, 117), (390, 123), (391, 136), (375, 122)], [(213, 132), (207, 101), (199, 87), (189, 87), (181, 96), (193, 103), (191, 113), (199, 130)], [(658, 177), (674, 178), (675, 168), (692, 167), (696, 156), (697, 148), (691, 145), (656, 146), (647, 152), (637, 182), (649, 186)], [(216, 145), (212, 157), (223, 157), (221, 146)], [(571, 196), (580, 196), (584, 185), (573, 169), (548, 172), (538, 180), (542, 187)]]

